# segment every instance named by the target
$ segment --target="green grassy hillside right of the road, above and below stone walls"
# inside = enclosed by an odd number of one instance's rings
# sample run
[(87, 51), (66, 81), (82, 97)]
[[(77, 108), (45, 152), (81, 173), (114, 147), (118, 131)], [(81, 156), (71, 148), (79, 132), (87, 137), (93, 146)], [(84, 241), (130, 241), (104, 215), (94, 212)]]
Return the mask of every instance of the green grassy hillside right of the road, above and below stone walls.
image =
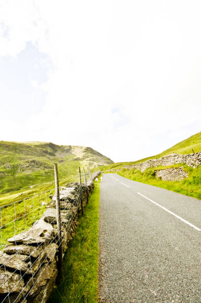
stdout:
[[(199, 167), (193, 168), (187, 166), (185, 163), (180, 163), (170, 166), (151, 167), (147, 168), (143, 172), (136, 168), (123, 168), (124, 165), (136, 164), (139, 162), (144, 162), (148, 159), (161, 158), (162, 156), (170, 153), (189, 154), (192, 152), (201, 152), (201, 132), (191, 136), (190, 138), (182, 142), (179, 142), (170, 149), (161, 152), (160, 154), (157, 154), (155, 156), (151, 156), (134, 162), (114, 163), (107, 166), (102, 166), (100, 167), (100, 169), (105, 171), (110, 171), (110, 169), (112, 169), (112, 171), (114, 172), (117, 170), (118, 174), (128, 179), (165, 188), (201, 200), (201, 165)], [(181, 181), (162, 181), (156, 178), (156, 170), (166, 168), (178, 168), (181, 165), (183, 167), (183, 170), (188, 173), (188, 178), (183, 179)]]

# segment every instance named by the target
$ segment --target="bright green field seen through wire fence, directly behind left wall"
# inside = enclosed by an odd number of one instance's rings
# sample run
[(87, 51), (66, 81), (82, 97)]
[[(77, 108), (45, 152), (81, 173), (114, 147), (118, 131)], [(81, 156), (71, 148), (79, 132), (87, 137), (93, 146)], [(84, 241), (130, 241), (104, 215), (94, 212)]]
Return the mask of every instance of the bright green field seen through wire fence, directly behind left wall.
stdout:
[[(69, 180), (69, 178), (59, 180), (59, 185), (62, 186)], [(50, 203), (49, 195), (54, 193), (54, 182), (48, 182), (36, 185), (32, 190), (8, 193), (0, 198), (0, 206), (2, 206), (0, 207), (0, 249), (8, 238), (29, 229), (36, 220), (40, 219), (46, 210), (46, 205), (42, 206), (41, 203)]]

